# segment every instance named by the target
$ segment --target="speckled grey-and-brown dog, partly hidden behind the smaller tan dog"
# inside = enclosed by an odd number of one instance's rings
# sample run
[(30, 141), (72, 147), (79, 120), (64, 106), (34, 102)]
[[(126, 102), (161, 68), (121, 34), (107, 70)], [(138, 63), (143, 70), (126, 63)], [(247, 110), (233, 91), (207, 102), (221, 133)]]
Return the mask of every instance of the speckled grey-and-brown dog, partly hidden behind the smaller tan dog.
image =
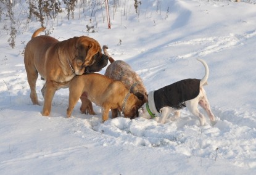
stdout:
[(141, 103), (144, 104), (147, 102), (147, 90), (142, 82), (142, 79), (139, 75), (133, 71), (133, 69), (128, 65), (128, 63), (122, 60), (114, 60), (110, 57), (107, 52), (108, 47), (102, 47), (105, 55), (109, 57), (110, 65), (105, 70), (105, 76), (121, 81), (125, 84), (125, 88), (129, 89), (131, 93), (138, 97), (141, 100)]

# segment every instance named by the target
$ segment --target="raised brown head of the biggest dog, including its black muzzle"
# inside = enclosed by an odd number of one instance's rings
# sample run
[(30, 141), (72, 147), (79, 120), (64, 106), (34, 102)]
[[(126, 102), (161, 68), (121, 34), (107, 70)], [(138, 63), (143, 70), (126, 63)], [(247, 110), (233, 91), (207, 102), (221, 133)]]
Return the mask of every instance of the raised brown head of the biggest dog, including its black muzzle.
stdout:
[[(75, 60), (73, 60), (73, 69), (76, 75), (82, 75), (86, 71), (99, 71), (107, 65), (107, 56), (102, 54), (99, 43), (88, 36), (76, 37)], [(96, 64), (95, 66), (93, 66)]]

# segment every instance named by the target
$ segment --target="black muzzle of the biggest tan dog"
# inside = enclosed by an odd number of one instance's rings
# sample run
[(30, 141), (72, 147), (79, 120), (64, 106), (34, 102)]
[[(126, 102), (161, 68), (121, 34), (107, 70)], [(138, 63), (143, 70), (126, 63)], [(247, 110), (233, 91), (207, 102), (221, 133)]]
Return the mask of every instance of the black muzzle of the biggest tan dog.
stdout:
[(102, 68), (104, 68), (107, 65), (109, 60), (109, 58), (106, 55), (102, 54), (101, 52), (98, 52), (96, 55), (94, 55), (93, 59), (94, 59), (93, 65), (90, 65), (85, 68), (86, 74), (101, 71)]

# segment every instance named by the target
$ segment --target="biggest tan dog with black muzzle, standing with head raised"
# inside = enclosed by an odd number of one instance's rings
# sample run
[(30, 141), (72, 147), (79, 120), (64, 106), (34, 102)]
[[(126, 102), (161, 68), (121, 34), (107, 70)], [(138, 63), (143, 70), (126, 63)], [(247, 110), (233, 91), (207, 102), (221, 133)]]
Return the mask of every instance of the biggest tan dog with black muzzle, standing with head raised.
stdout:
[[(39, 105), (36, 94), (38, 73), (46, 80), (42, 88), (44, 97), (42, 115), (48, 116), (51, 112), (53, 96), (58, 89), (67, 88), (76, 75), (82, 75), (86, 71), (101, 70), (107, 65), (108, 60), (107, 56), (101, 53), (99, 43), (92, 38), (80, 36), (58, 41), (51, 36), (37, 36), (44, 29), (39, 28), (33, 33), (25, 47), (24, 63), (33, 104)], [(94, 64), (98, 64), (99, 68), (94, 67)]]

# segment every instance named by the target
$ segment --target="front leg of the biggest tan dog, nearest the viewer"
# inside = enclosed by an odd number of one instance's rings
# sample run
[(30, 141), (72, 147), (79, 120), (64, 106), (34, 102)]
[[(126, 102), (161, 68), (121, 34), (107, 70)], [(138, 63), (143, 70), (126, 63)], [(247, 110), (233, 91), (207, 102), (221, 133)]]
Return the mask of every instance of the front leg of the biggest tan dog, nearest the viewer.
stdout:
[(44, 89), (44, 107), (43, 107), (43, 116), (49, 116), (52, 108), (52, 99), (57, 91), (57, 88), (54, 87), (51, 81), (46, 81), (45, 89)]

